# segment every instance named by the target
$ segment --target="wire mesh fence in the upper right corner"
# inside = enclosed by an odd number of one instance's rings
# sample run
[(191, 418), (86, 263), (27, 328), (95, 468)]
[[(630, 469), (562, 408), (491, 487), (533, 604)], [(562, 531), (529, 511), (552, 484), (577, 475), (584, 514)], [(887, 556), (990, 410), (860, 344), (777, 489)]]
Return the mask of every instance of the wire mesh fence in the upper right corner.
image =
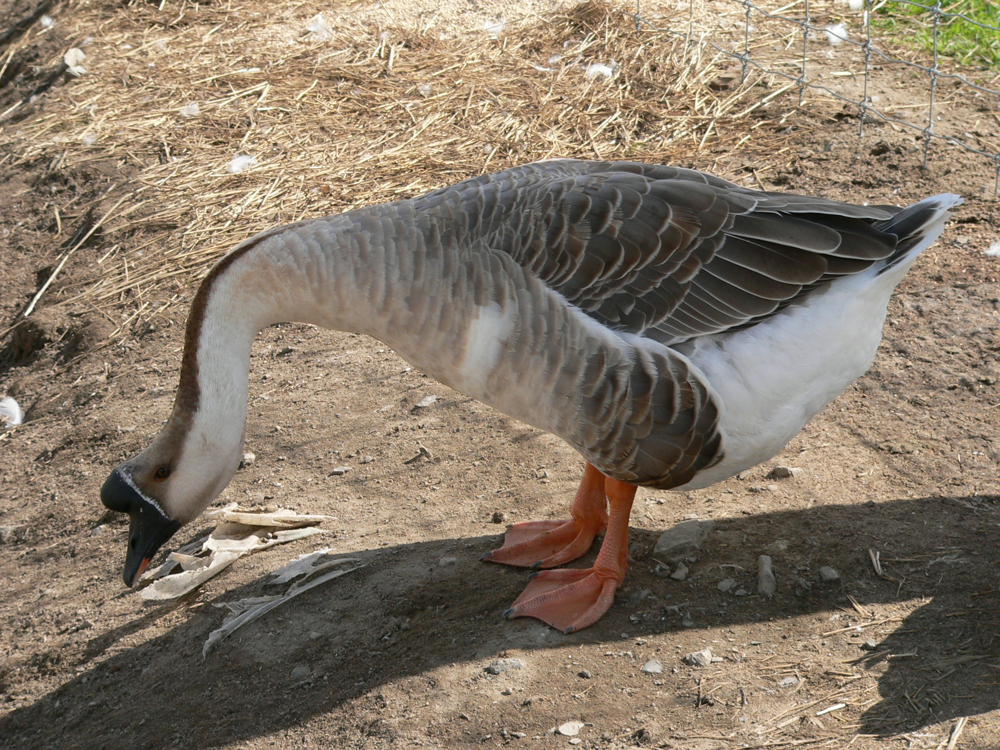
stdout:
[[(988, 160), (994, 169), (993, 195), (1000, 195), (1000, 117), (995, 112), (1000, 109), (1000, 90), (991, 88), (991, 85), (1000, 86), (997, 80), (1000, 75), (994, 73), (992, 77), (988, 73), (976, 75), (975, 72), (958, 72), (942, 67), (942, 43), (941, 31), (947, 25), (962, 22), (995, 33), (1000, 41), (1000, 27), (983, 23), (962, 13), (955, 13), (945, 10), (941, 0), (936, 0), (934, 5), (924, 5), (913, 0), (881, 0), (878, 4), (873, 4), (872, 0), (842, 0), (847, 7), (844, 9), (833, 7), (832, 2), (825, 2), (820, 5), (817, 0), (794, 0), (780, 8), (768, 9), (756, 5), (752, 0), (715, 0), (713, 5), (717, 8), (728, 7), (730, 10), (738, 9), (742, 18), (738, 24), (733, 24), (728, 28), (728, 33), (707, 34), (703, 29), (695, 29), (695, 0), (687, 0), (687, 23), (678, 27), (671, 27), (666, 23), (667, 19), (649, 18), (643, 16), (642, 0), (636, 0), (635, 13), (625, 11), (636, 23), (636, 29), (649, 28), (656, 31), (667, 32), (680, 37), (688, 43), (706, 44), (720, 52), (740, 65), (741, 81), (745, 81), (751, 71), (760, 74), (774, 76), (787, 80), (787, 84), (776, 93), (784, 93), (792, 88), (798, 89), (798, 104), (803, 104), (803, 99), (807, 91), (822, 92), (835, 100), (843, 101), (845, 105), (853, 105), (856, 108), (858, 121), (858, 137), (865, 135), (865, 126), (873, 122), (883, 121), (892, 123), (897, 129), (915, 131), (917, 137), (922, 140), (922, 166), (926, 169), (928, 159), (931, 156), (931, 147), (934, 142), (941, 141), (948, 146), (964, 149), (965, 151), (977, 154)], [(819, 6), (819, 7), (817, 7)], [(887, 7), (889, 6), (889, 7)], [(790, 15), (788, 11), (795, 9), (795, 15)], [(877, 29), (873, 33), (875, 13), (883, 11), (883, 15), (897, 14), (900, 9), (913, 9), (918, 12), (930, 14), (929, 21), (929, 60), (924, 62), (904, 59), (897, 51), (883, 49), (876, 45), (874, 39), (877, 37)], [(717, 11), (716, 16), (727, 16), (729, 11)], [(848, 27), (844, 23), (818, 25), (823, 20), (831, 17), (845, 17), (850, 15), (851, 20), (861, 27), (861, 39), (856, 40), (851, 37)], [(676, 23), (676, 22), (675, 22)], [(791, 31), (791, 33), (789, 33)], [(773, 58), (755, 54), (755, 50), (768, 45), (769, 40), (781, 39), (787, 42), (785, 51), (792, 47), (794, 43), (798, 48), (797, 60), (793, 61), (793, 66), (797, 71), (780, 70), (773, 64)], [(826, 46), (845, 44), (860, 52), (863, 61), (861, 71), (837, 71), (829, 75), (824, 75), (828, 71), (821, 71), (815, 60), (811, 57), (813, 53)], [(812, 63), (812, 64), (811, 64)], [(876, 66), (896, 65), (905, 69), (915, 71), (920, 78), (926, 81), (926, 115), (920, 118), (919, 122), (911, 121), (902, 117), (893, 116), (890, 111), (877, 106), (878, 98), (870, 94), (870, 85), (874, 68)], [(842, 88), (834, 88), (828, 85), (832, 76), (850, 75), (860, 79), (860, 95), (852, 97), (845, 93)], [(958, 91), (952, 97), (952, 101), (961, 99), (968, 92), (968, 96), (976, 96), (982, 100), (982, 104), (989, 109), (992, 106), (993, 117), (996, 120), (996, 127), (987, 134), (982, 133), (953, 133), (944, 132), (940, 128), (935, 128), (935, 123), (941, 119), (941, 103), (939, 92), (942, 82), (949, 82)], [(916, 87), (918, 83), (911, 81), (911, 86)]]

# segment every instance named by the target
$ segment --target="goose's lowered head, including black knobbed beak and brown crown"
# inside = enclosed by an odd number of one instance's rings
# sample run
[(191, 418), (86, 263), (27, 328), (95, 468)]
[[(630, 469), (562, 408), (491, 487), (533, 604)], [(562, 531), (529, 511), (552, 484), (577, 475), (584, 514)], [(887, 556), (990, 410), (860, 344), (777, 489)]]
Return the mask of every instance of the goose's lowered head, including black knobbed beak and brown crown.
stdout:
[[(196, 518), (236, 473), (240, 451), (212, 449), (201, 440), (179, 446), (164, 430), (142, 453), (118, 465), (101, 487), (101, 502), (129, 516), (122, 577), (132, 586), (157, 550)], [(240, 442), (242, 447), (242, 441)]]

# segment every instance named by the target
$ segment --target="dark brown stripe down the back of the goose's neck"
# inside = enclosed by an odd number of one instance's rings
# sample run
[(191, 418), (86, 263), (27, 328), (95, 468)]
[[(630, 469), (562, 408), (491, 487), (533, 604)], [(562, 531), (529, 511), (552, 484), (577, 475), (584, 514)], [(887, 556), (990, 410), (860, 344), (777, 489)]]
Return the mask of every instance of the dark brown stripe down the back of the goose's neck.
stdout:
[(198, 385), (198, 350), (201, 346), (201, 329), (205, 322), (208, 300), (212, 296), (215, 282), (237, 260), (257, 247), (261, 242), (288, 229), (307, 224), (315, 219), (297, 221), (294, 224), (268, 229), (245, 240), (228, 255), (223, 256), (202, 279), (198, 291), (191, 302), (187, 324), (184, 330), (184, 354), (181, 356), (181, 373), (177, 383), (177, 395), (174, 397), (174, 408), (170, 416), (171, 438), (178, 444), (191, 429), (191, 423), (201, 403), (201, 388)]

